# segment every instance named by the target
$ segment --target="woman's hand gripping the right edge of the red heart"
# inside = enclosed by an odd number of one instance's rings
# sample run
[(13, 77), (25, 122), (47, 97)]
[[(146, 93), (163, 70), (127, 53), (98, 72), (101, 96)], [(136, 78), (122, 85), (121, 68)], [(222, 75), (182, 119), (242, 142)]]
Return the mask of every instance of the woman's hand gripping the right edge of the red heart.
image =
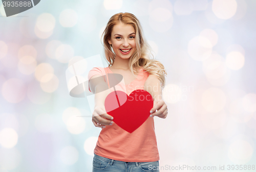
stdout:
[(166, 118), (168, 113), (167, 105), (163, 100), (160, 100), (159, 102), (154, 101), (154, 106), (151, 109), (151, 111), (151, 117), (158, 116), (160, 118)]

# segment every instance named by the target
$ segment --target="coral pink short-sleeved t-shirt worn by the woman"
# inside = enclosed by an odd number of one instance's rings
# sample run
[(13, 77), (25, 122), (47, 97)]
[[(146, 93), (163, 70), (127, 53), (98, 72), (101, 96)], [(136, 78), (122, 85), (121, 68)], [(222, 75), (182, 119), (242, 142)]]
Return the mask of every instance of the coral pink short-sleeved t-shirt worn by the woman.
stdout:
[[(149, 75), (148, 72), (140, 73), (136, 80), (125, 85), (127, 95), (136, 89), (144, 89), (144, 83)], [(90, 70), (88, 81), (94, 75), (105, 76), (106, 73), (113, 73), (109, 67), (94, 67)], [(108, 83), (108, 79), (104, 77)], [(123, 87), (116, 86), (121, 90)], [(114, 91), (113, 88), (112, 91)], [(90, 86), (89, 86), (89, 91)], [(129, 133), (118, 125), (106, 125), (99, 134), (94, 153), (96, 155), (125, 162), (152, 162), (159, 160), (157, 140), (154, 127), (154, 117), (148, 117), (146, 121), (134, 132)]]

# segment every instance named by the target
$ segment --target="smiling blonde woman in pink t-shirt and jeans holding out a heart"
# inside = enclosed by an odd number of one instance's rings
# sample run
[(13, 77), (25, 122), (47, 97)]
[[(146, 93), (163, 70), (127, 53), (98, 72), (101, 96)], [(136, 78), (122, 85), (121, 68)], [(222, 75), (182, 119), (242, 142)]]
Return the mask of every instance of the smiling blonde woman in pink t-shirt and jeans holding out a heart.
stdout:
[[(92, 121), (102, 128), (94, 150), (93, 171), (159, 171), (154, 116), (167, 116), (161, 92), (167, 73), (159, 61), (148, 58), (151, 48), (133, 14), (113, 15), (102, 36), (109, 67), (94, 67), (88, 75), (89, 81), (94, 79), (89, 82), (89, 90), (97, 92)], [(108, 78), (101, 77), (106, 73), (123, 76), (127, 95), (133, 90), (144, 89), (153, 97), (151, 117), (132, 133), (117, 126), (113, 117), (105, 112), (105, 97), (113, 90), (109, 89)]]

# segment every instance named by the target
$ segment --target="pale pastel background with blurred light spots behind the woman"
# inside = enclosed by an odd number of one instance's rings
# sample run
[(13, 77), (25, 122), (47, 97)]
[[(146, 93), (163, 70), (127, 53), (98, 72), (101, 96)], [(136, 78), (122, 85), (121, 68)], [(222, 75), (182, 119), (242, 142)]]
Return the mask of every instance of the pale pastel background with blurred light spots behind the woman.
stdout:
[(256, 165), (256, 1), (42, 0), (11, 17), (0, 5), (0, 171), (92, 170), (101, 129), (77, 117), (91, 113), (65, 71), (97, 54), (107, 66), (100, 36), (119, 12), (138, 17), (168, 74), (160, 166)]

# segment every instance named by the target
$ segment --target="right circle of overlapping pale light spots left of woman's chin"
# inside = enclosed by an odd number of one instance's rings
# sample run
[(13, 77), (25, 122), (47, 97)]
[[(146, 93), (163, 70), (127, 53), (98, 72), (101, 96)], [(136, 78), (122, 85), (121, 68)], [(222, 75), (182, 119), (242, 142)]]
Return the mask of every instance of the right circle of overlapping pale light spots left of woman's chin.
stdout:
[(56, 48), (55, 57), (61, 63), (68, 63), (74, 56), (74, 49), (71, 45), (61, 44)]

